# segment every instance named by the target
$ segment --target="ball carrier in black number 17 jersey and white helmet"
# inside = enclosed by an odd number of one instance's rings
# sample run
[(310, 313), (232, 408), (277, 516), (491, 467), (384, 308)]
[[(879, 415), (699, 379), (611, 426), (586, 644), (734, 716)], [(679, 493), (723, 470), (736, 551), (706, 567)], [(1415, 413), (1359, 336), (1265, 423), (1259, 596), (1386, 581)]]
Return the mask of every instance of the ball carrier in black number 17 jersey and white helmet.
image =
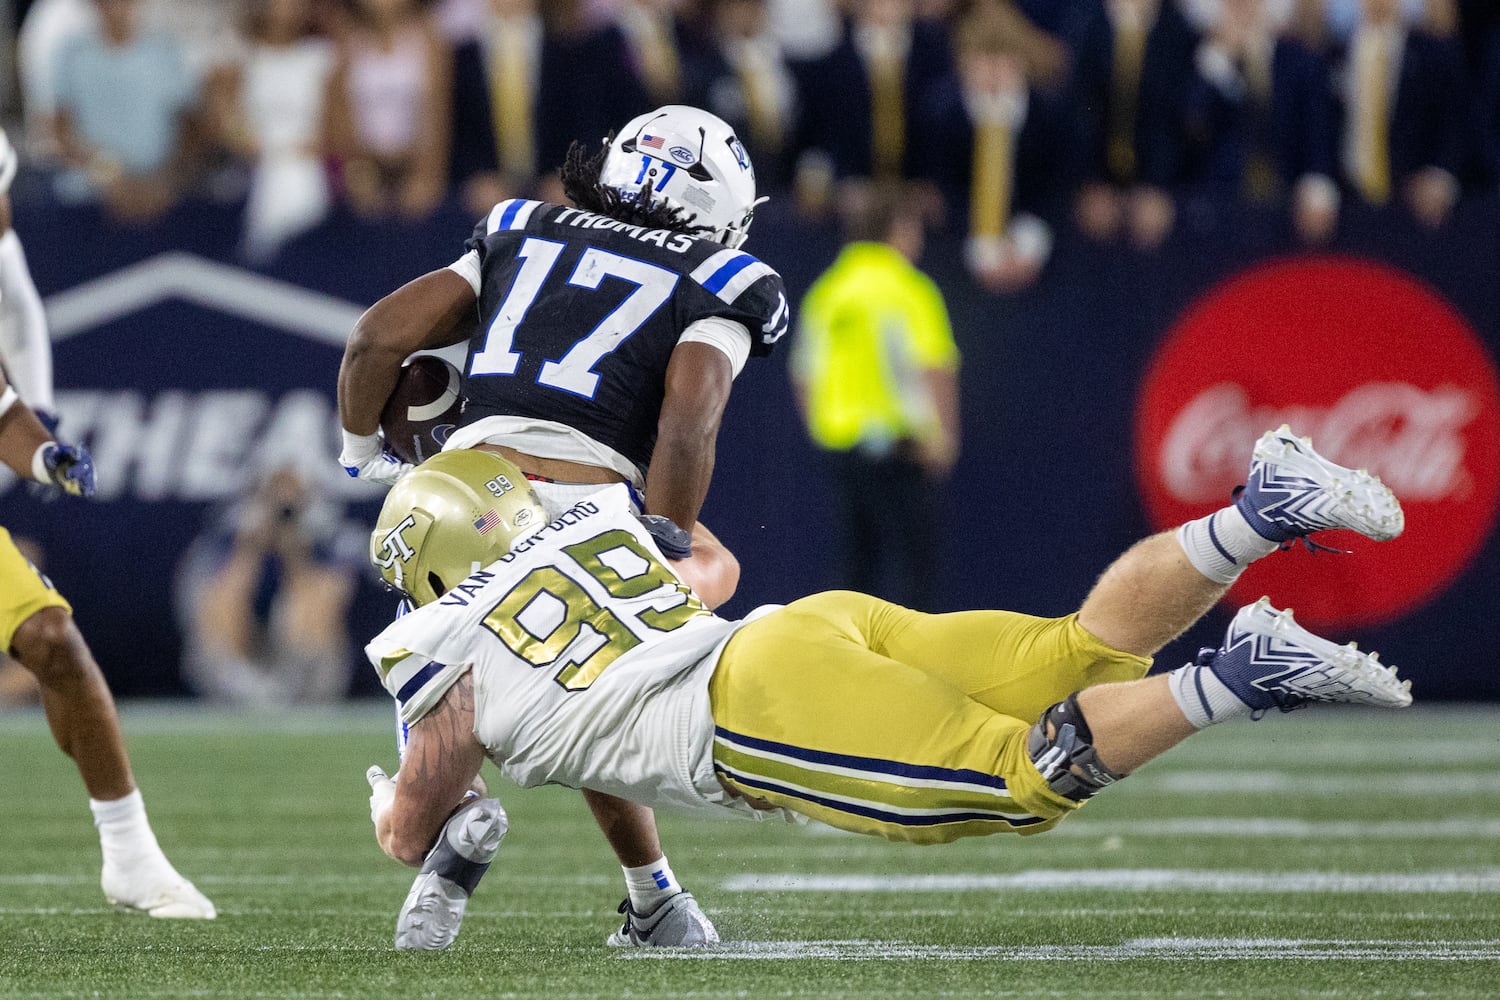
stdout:
[[(466, 403), (448, 450), (500, 453), (549, 510), (628, 483), (645, 511), (712, 538), (698, 516), (730, 384), (790, 321), (780, 274), (740, 249), (764, 201), (750, 157), (720, 118), (669, 105), (603, 148), (574, 144), (562, 183), (572, 205), (496, 204), (454, 264), (364, 313), (339, 369), (339, 460), (357, 478), (399, 478), (408, 466), (378, 427), (400, 364), (466, 340)], [(705, 600), (734, 592), (738, 565), (724, 573)], [(585, 798), (630, 889), (610, 943), (717, 940), (672, 877), (651, 811)], [(664, 907), (692, 912), (663, 921)]]

